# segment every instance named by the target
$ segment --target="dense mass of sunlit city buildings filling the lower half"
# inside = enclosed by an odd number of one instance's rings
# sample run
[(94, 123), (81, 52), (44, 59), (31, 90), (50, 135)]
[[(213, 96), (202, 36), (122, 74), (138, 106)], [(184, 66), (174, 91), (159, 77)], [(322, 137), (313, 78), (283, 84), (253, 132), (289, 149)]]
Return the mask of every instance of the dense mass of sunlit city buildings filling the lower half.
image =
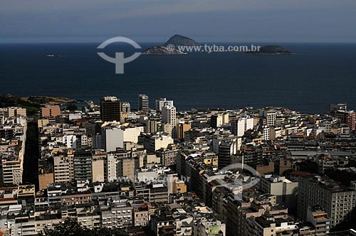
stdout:
[[(29, 119), (20, 107), (0, 109), (3, 235), (41, 234), (66, 218), (124, 235), (352, 233), (342, 226), (356, 206), (346, 106), (310, 115), (156, 104), (131, 111), (104, 97), (80, 111), (44, 106)], [(38, 129), (35, 185), (23, 179), (29, 120)]]

